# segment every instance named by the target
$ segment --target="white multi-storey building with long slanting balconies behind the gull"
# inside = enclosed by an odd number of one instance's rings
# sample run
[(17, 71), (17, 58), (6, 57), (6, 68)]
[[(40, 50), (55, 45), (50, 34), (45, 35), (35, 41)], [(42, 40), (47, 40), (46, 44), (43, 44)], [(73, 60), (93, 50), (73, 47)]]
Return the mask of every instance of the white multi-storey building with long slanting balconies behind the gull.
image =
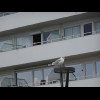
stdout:
[(100, 12), (0, 12), (0, 79), (60, 87), (47, 66), (60, 57), (75, 67), (69, 87), (100, 86)]

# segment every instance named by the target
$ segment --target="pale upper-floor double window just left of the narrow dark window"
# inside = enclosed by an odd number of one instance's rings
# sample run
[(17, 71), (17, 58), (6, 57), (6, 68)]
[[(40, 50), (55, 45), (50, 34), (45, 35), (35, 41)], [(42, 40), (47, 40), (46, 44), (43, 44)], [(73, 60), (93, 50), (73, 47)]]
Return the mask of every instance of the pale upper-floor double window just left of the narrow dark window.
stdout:
[(70, 28), (65, 28), (64, 29), (64, 34), (65, 34), (66, 39), (79, 37), (80, 34), (81, 34), (80, 25), (79, 26), (70, 27)]

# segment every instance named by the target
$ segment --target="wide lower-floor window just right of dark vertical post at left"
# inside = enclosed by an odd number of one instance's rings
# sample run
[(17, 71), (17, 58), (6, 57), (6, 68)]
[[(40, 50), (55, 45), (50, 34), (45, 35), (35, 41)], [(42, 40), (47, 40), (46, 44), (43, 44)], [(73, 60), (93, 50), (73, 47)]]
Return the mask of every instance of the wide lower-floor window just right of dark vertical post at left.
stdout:
[(18, 86), (30, 86), (32, 85), (32, 73), (28, 72), (18, 72), (17, 73), (17, 84)]

